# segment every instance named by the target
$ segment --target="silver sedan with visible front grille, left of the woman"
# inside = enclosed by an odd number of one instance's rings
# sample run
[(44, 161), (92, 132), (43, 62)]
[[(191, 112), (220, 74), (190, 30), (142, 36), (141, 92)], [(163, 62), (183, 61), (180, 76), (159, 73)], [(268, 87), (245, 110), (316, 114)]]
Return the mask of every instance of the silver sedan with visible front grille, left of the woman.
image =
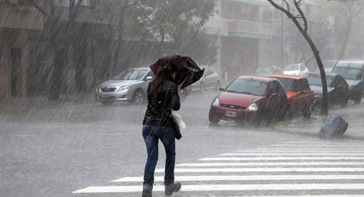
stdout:
[(112, 104), (114, 101), (145, 103), (148, 84), (152, 81), (153, 76), (149, 67), (124, 70), (112, 79), (98, 85), (95, 89), (95, 98), (103, 104)]

